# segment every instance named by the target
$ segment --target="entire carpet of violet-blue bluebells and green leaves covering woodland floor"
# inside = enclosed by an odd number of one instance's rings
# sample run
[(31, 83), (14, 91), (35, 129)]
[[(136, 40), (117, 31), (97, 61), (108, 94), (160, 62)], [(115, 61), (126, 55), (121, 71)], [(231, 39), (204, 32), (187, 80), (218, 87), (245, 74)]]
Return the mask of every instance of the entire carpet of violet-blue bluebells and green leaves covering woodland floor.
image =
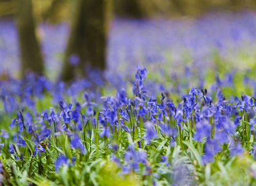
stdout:
[[(108, 70), (69, 83), (13, 78), (13, 27), (0, 23), (1, 184), (256, 185), (255, 13), (116, 19)], [(40, 29), (58, 72), (68, 26)]]

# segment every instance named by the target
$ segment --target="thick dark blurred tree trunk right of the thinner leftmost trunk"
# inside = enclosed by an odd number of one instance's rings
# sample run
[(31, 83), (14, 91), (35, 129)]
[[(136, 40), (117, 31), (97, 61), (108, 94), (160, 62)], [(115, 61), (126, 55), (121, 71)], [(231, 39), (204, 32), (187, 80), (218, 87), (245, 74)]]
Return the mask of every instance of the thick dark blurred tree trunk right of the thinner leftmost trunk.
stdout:
[[(108, 24), (111, 0), (76, 0), (74, 16), (65, 52), (63, 80), (84, 76), (85, 66), (105, 69)], [(79, 63), (70, 63), (70, 56), (79, 56)]]

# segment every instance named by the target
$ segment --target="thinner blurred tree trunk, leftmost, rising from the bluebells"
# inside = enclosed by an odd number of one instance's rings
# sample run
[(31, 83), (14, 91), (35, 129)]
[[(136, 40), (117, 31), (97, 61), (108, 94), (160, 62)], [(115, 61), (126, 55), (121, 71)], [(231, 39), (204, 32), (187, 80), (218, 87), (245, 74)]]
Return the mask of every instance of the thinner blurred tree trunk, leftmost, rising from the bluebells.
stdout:
[(19, 0), (17, 12), (17, 28), (19, 34), (21, 70), (43, 74), (44, 63), (39, 41), (36, 37), (31, 0)]

